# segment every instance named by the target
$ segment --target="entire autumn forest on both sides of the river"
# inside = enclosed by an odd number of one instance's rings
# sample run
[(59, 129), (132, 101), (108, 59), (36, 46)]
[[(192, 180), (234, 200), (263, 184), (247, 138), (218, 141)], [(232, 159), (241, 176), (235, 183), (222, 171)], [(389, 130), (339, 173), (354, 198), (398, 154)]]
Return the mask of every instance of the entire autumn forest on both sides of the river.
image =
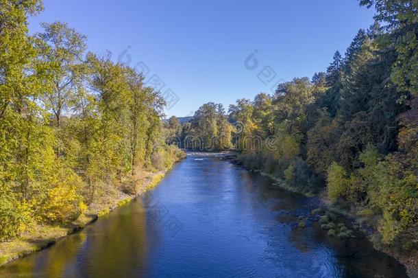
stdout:
[(359, 3), (375, 23), (326, 69), (181, 123), (143, 73), (88, 51), (67, 23), (30, 34), (42, 1), (0, 0), (0, 243), (135, 196), (140, 176), (184, 150), (232, 151), (356, 219), (378, 248), (416, 258), (418, 1)]

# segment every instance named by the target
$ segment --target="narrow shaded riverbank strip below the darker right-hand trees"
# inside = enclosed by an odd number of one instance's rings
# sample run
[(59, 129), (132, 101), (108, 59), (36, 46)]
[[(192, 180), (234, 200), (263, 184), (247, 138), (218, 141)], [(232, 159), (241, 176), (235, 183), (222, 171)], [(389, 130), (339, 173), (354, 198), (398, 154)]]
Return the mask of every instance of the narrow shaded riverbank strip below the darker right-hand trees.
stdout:
[[(243, 165), (240, 161), (237, 161), (236, 159), (228, 159), (234, 164), (241, 165), (242, 167), (245, 167), (246, 170), (249, 170), (251, 172), (256, 172), (259, 174), (262, 174), (263, 176), (268, 176), (273, 180), (275, 183), (275, 186), (278, 186), (282, 189), (286, 189), (290, 192), (302, 194), (306, 196), (307, 198), (317, 198), (318, 201), (315, 203), (318, 203), (318, 209), (323, 209), (324, 211), (330, 211), (332, 213), (338, 213), (339, 215), (347, 218), (349, 222), (353, 226), (359, 226), (359, 219), (356, 215), (353, 213), (350, 213), (349, 211), (342, 209), (339, 205), (334, 205), (330, 200), (327, 198), (325, 191), (320, 192), (319, 194), (311, 194), (310, 192), (301, 192), (297, 188), (292, 187), (291, 185), (288, 185), (286, 181), (284, 181), (282, 178), (278, 178), (276, 176), (273, 176), (271, 174), (267, 174), (265, 172), (262, 172), (261, 170), (253, 170), (249, 167), (246, 167)], [(415, 253), (399, 253), (391, 248), (388, 248), (386, 246), (382, 246), (377, 244), (375, 241), (373, 241), (373, 229), (371, 227), (363, 227), (363, 229), (359, 229), (362, 233), (365, 233), (368, 240), (373, 244), (373, 248), (375, 248), (378, 251), (381, 251), (383, 253), (386, 253), (387, 255), (390, 255), (391, 257), (395, 258), (400, 264), (404, 265), (406, 268), (406, 272), (409, 277), (418, 278), (418, 251)]]

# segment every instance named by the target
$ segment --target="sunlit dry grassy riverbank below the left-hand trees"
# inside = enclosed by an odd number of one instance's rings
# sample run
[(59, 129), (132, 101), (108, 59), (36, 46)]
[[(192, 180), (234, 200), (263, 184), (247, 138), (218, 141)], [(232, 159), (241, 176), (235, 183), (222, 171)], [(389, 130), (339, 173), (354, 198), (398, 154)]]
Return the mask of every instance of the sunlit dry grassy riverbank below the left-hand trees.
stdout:
[[(111, 192), (106, 192), (102, 198), (97, 198), (92, 202), (86, 211), (77, 220), (65, 225), (41, 225), (35, 224), (30, 231), (25, 231), (19, 238), (8, 242), (0, 243), (0, 266), (19, 259), (30, 253), (40, 251), (56, 244), (58, 240), (66, 238), (68, 235), (84, 229), (88, 224), (92, 224), (101, 216), (110, 213), (116, 207), (120, 207), (132, 199), (141, 196), (147, 190), (155, 187), (162, 181), (165, 174), (171, 167), (158, 172), (140, 171), (130, 181), (121, 183)], [(127, 187), (130, 188), (127, 192)], [(112, 187), (109, 186), (108, 189)]]

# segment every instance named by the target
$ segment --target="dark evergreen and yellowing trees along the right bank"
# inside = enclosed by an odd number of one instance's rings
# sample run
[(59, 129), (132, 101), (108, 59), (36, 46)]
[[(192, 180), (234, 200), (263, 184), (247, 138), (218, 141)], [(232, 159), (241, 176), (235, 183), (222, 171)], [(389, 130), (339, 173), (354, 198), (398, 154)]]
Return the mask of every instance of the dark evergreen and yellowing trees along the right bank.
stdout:
[[(344, 56), (336, 51), (325, 72), (230, 106), (231, 142), (244, 165), (300, 192), (326, 184), (328, 200), (376, 230), (373, 242), (416, 251), (418, 3), (360, 4), (376, 7), (376, 23)], [(213, 111), (205, 104), (178, 134), (218, 138), (216, 115), (225, 115)]]

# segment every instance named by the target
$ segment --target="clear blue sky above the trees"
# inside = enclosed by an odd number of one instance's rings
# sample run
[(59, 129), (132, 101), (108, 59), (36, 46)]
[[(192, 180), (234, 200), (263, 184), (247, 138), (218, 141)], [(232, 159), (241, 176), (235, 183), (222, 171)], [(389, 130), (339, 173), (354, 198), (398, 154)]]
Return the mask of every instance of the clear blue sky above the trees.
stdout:
[[(205, 102), (228, 108), (238, 98), (270, 92), (276, 81), (311, 77), (324, 71), (336, 49), (341, 53), (359, 28), (373, 22), (373, 10), (357, 0), (45, 0), (30, 19), (63, 21), (88, 36), (88, 48), (109, 50), (114, 60), (130, 47), (130, 65), (144, 62), (180, 100), (168, 116), (186, 116)], [(258, 67), (244, 66), (256, 49)], [(127, 62), (128, 56), (122, 61)], [(277, 74), (266, 84), (258, 73)], [(273, 76), (273, 73), (271, 73)]]

